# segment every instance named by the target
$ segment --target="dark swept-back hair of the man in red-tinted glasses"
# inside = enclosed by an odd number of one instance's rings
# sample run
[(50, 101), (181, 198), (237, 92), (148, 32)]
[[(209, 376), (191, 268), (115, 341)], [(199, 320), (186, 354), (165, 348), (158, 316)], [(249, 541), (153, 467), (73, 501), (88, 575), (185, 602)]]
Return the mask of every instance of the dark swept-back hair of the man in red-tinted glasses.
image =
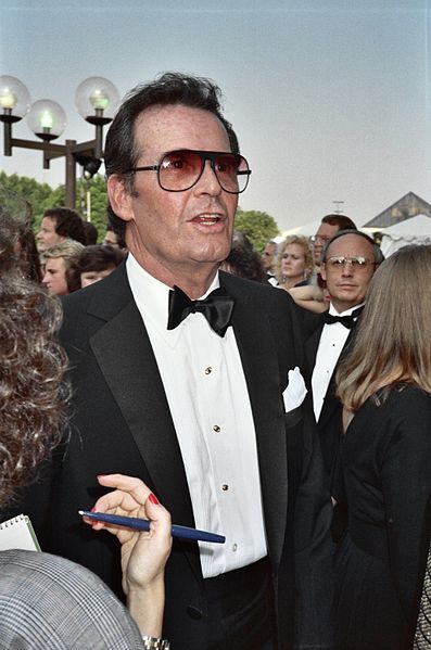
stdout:
[[(107, 133), (104, 150), (106, 177), (112, 174), (124, 176), (127, 189), (134, 191), (134, 175), (126, 173), (136, 167), (141, 152), (135, 141), (135, 123), (138, 116), (151, 106), (180, 104), (213, 113), (226, 128), (230, 148), (239, 153), (237, 136), (231, 124), (221, 114), (221, 91), (212, 80), (181, 73), (165, 73), (155, 80), (134, 88), (121, 105)], [(107, 216), (112, 229), (124, 235), (126, 225), (111, 205)]]

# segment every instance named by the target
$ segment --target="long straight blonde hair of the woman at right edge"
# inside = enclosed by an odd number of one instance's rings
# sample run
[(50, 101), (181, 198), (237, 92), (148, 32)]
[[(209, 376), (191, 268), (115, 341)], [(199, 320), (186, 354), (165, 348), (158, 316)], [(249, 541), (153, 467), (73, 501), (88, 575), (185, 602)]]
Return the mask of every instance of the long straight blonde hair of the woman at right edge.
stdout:
[(377, 391), (410, 382), (431, 393), (431, 246), (405, 246), (376, 271), (352, 352), (337, 373), (353, 412)]

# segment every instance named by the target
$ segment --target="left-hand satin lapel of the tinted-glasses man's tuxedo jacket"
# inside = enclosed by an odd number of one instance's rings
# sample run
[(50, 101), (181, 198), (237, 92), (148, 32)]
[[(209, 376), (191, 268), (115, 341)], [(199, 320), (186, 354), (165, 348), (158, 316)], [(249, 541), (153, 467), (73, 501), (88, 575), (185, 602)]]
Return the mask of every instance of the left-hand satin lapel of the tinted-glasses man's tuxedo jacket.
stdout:
[[(91, 337), (91, 348), (157, 497), (169, 505), (173, 521), (193, 526), (185, 468), (162, 379), (123, 271), (119, 271), (123, 277), (117, 278), (119, 286), (106, 292), (104, 299), (99, 294), (97, 303), (90, 305), (89, 313), (106, 321)], [(198, 575), (201, 574), (199, 555), (188, 552), (188, 556)]]

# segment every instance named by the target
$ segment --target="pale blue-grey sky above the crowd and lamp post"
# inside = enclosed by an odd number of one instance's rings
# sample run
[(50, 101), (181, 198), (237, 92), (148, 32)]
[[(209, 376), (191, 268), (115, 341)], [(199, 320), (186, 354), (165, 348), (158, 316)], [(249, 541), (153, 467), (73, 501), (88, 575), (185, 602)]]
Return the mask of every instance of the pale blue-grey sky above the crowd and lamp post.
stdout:
[[(0, 0), (0, 74), (64, 107), (59, 142), (93, 136), (74, 105), (87, 77), (121, 95), (168, 69), (211, 77), (253, 169), (242, 208), (287, 229), (344, 201), (363, 225), (408, 191), (431, 202), (429, 33), (428, 0)], [(1, 155), (64, 182), (51, 167)]]

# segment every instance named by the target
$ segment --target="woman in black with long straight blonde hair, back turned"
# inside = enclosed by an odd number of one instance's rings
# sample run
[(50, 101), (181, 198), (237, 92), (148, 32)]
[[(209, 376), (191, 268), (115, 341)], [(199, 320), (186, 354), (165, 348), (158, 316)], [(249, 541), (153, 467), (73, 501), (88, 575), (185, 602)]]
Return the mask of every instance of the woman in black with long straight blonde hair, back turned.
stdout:
[(430, 541), (431, 247), (375, 273), (341, 364), (347, 532), (335, 561), (337, 650), (413, 646)]

